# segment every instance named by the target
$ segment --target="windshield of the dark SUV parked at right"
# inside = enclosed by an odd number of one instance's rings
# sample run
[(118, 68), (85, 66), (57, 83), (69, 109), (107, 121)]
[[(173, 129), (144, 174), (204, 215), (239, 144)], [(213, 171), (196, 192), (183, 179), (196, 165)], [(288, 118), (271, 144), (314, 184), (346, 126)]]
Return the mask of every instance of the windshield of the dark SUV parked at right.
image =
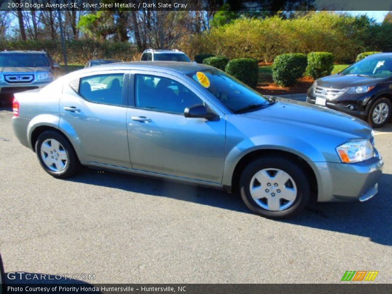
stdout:
[(346, 68), (340, 74), (368, 77), (390, 77), (392, 76), (392, 58), (381, 56), (365, 58)]

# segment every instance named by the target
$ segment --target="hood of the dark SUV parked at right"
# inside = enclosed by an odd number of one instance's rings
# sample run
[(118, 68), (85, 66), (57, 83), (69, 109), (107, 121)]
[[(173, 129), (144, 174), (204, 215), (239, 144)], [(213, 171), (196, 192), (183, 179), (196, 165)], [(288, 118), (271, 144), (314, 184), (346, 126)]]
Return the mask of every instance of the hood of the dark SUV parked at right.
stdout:
[(366, 77), (358, 75), (333, 74), (324, 76), (317, 80), (317, 85), (321, 87), (343, 89), (354, 86), (367, 86), (383, 82), (385, 78)]

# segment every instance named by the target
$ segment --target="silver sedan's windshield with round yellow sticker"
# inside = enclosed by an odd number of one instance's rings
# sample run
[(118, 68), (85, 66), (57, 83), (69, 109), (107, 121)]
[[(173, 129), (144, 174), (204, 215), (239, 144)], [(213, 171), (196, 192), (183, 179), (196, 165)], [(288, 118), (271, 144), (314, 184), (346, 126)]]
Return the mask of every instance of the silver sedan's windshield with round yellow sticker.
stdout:
[(270, 99), (221, 71), (208, 69), (187, 75), (201, 84), (234, 113), (239, 113), (242, 110), (256, 110), (271, 104)]

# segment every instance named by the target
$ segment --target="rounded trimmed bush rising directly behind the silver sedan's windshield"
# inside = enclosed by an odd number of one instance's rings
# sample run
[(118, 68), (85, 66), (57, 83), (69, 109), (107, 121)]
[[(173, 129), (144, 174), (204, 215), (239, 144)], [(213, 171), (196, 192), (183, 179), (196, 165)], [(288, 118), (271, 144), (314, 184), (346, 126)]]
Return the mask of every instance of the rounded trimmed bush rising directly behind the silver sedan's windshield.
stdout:
[(259, 64), (256, 59), (238, 58), (230, 60), (226, 65), (225, 71), (249, 86), (257, 85)]

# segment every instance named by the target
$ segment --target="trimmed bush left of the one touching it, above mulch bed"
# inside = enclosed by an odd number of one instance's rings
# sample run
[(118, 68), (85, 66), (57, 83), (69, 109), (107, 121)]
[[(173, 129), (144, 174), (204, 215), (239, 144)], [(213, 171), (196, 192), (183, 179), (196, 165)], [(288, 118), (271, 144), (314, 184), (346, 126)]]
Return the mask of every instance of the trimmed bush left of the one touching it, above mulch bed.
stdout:
[(295, 84), (303, 76), (308, 65), (308, 58), (303, 53), (287, 53), (275, 57), (272, 65), (272, 79), (280, 86)]

